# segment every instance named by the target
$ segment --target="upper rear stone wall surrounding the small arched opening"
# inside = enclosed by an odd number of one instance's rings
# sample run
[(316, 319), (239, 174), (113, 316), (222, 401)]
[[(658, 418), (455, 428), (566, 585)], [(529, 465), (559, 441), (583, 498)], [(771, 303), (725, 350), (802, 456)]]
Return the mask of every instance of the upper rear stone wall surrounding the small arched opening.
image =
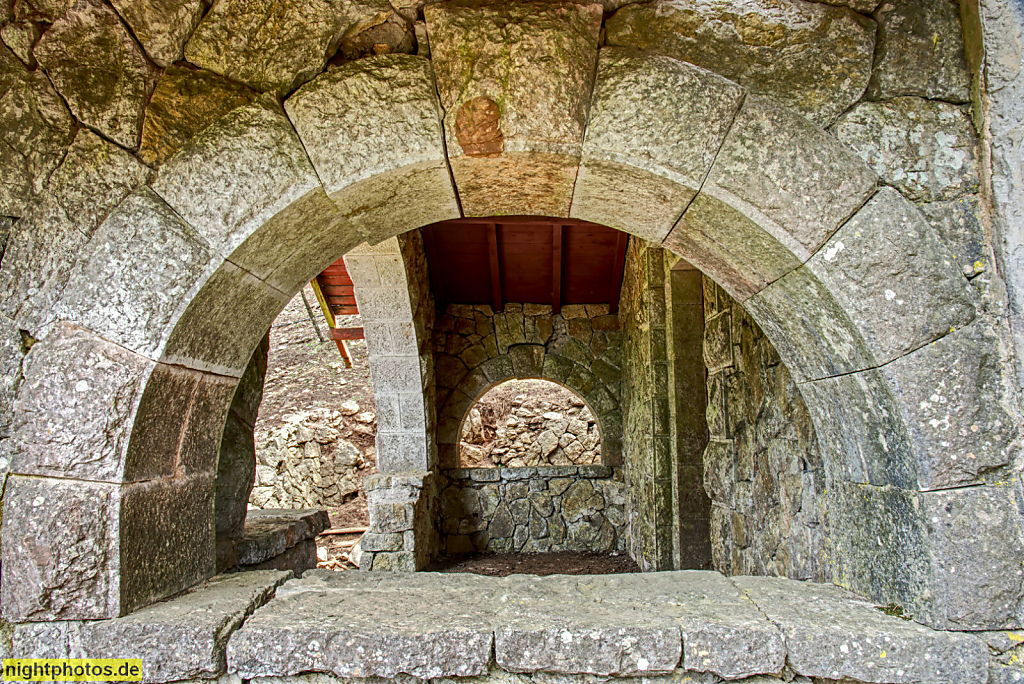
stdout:
[(459, 465), (462, 423), (487, 389), (513, 378), (541, 378), (584, 397), (597, 416), (606, 465), (617, 465), (622, 334), (606, 304), (573, 304), (552, 314), (548, 304), (451, 304), (434, 329), (442, 468)]

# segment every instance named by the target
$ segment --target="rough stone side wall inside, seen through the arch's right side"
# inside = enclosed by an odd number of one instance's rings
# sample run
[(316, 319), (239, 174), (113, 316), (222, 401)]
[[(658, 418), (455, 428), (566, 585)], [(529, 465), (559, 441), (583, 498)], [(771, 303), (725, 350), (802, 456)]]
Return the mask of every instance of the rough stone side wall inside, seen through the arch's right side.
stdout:
[(743, 307), (705, 276), (715, 568), (828, 582), (825, 473), (797, 385)]

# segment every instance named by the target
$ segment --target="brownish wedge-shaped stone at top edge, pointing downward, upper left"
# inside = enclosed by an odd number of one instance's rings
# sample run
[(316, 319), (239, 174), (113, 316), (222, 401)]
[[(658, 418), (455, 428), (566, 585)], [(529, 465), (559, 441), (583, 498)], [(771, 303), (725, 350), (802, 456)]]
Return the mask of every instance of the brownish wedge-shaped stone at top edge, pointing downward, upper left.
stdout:
[(112, 0), (150, 58), (165, 69), (184, 56), (185, 41), (199, 25), (204, 0)]

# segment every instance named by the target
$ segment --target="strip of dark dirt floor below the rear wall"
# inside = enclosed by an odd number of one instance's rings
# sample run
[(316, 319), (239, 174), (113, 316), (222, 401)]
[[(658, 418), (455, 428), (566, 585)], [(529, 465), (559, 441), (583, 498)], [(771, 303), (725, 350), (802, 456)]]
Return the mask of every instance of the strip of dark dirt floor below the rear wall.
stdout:
[(429, 570), (472, 572), (504, 578), (509, 574), (618, 574), (639, 572), (640, 567), (626, 554), (573, 553), (488, 553), (442, 558)]

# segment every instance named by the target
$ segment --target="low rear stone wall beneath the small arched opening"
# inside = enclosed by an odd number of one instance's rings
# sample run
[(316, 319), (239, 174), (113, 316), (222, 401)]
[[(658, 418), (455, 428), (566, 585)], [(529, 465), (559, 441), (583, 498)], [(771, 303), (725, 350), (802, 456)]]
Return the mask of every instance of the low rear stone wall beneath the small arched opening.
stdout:
[(626, 550), (622, 468), (457, 469), (441, 482), (447, 554)]

